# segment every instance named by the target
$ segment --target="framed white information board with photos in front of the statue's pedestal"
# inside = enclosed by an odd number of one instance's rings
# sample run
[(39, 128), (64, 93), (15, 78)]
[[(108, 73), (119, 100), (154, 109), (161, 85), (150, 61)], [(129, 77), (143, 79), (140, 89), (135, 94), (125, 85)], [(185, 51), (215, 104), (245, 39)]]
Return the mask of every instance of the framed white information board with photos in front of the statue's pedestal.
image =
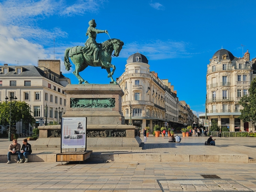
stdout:
[(62, 117), (61, 148), (85, 148), (86, 117)]

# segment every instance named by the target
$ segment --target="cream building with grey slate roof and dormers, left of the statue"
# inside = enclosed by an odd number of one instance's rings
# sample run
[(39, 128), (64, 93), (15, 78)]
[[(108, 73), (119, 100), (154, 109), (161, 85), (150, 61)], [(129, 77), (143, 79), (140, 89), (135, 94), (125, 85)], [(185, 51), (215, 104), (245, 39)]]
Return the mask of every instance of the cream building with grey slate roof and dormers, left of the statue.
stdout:
[[(0, 101), (7, 96), (16, 96), (17, 100), (25, 101), (36, 119), (34, 126), (50, 121), (59, 121), (59, 114), (55, 108), (63, 108), (66, 112), (66, 94), (63, 88), (70, 84), (70, 79), (60, 72), (60, 60), (39, 60), (36, 66), (0, 66)], [(46, 114), (47, 104), (47, 114)], [(33, 125), (18, 122), (17, 133), (27, 130), (31, 133)], [(4, 127), (0, 126), (1, 131)]]

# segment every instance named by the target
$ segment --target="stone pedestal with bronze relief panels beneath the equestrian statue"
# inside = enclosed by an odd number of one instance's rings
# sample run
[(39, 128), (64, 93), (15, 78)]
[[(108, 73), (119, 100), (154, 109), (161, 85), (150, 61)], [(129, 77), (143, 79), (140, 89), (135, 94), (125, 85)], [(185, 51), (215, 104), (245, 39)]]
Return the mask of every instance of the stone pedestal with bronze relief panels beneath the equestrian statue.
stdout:
[[(62, 117), (87, 117), (87, 150), (142, 149), (138, 127), (124, 125), (124, 92), (118, 84), (69, 84), (63, 91), (67, 93), (67, 111)], [(60, 125), (38, 128), (39, 139), (34, 147), (52, 146), (46, 143), (53, 140), (58, 142), (56, 148), (60, 147), (60, 138), (51, 134), (57, 132)]]

